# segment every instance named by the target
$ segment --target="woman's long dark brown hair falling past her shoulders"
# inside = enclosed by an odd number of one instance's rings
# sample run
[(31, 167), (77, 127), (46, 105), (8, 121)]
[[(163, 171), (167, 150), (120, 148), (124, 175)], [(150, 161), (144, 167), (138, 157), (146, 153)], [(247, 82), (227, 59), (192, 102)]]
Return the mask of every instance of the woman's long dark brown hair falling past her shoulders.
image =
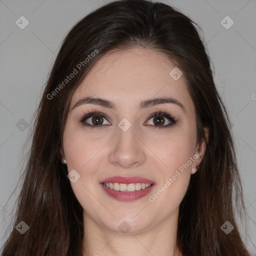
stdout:
[[(205, 155), (180, 204), (177, 246), (183, 256), (249, 255), (234, 216), (235, 207), (241, 212), (245, 207), (230, 122), (196, 27), (200, 29), (178, 10), (147, 0), (110, 2), (72, 27), (34, 116), (31, 148), (3, 256), (82, 255), (82, 207), (59, 155), (65, 119), (74, 90), (99, 57), (128, 47), (146, 47), (176, 63), (195, 106), (197, 141), (205, 139), (203, 126), (209, 127)], [(74, 76), (68, 79), (71, 73)], [(15, 228), (20, 221), (29, 226), (24, 234)], [(220, 228), (225, 221), (234, 227), (229, 234)]]

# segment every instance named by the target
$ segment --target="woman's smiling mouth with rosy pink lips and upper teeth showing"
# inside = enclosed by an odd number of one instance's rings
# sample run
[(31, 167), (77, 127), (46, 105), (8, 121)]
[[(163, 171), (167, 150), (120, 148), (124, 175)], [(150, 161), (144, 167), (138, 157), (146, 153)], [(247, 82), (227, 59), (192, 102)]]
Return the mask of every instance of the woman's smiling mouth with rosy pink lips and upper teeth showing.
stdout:
[(103, 190), (119, 201), (137, 200), (147, 195), (155, 182), (140, 177), (110, 177), (100, 181)]

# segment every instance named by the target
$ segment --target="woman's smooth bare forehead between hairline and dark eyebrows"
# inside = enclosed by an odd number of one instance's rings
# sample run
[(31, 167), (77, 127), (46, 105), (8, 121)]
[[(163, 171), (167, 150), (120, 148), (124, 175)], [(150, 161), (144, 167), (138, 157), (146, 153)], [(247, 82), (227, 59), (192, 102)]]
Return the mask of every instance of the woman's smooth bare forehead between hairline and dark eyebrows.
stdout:
[[(84, 96), (105, 98), (130, 108), (152, 97), (169, 96), (193, 108), (186, 81), (169, 74), (175, 65), (162, 53), (131, 48), (103, 55), (75, 90), (71, 106)], [(137, 103), (136, 103), (137, 102)]]

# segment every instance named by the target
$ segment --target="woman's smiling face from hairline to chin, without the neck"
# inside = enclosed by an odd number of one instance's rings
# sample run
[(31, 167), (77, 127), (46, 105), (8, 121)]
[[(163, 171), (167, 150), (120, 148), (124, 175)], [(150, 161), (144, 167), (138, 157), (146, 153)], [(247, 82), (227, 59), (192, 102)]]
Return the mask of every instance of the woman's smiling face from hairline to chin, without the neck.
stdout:
[(107, 54), (71, 98), (60, 152), (84, 216), (102, 229), (146, 231), (177, 216), (204, 144), (174, 67), (149, 49)]

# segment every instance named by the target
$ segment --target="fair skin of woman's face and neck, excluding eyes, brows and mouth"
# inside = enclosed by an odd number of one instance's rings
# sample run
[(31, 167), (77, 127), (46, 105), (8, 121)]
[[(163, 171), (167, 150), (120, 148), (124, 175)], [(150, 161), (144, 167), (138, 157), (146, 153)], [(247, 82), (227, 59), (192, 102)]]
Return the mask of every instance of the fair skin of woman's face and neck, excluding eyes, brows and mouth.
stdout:
[[(179, 204), (190, 176), (200, 163), (205, 141), (196, 144), (195, 110), (186, 83), (174, 80), (174, 67), (166, 56), (150, 49), (132, 48), (100, 58), (71, 98), (63, 133), (62, 161), (68, 171), (75, 169), (80, 178), (70, 182), (83, 207), (87, 236), (85, 255), (181, 255), (175, 247)], [(84, 96), (107, 99), (116, 110), (95, 104), (82, 104), (71, 110)], [(169, 96), (180, 106), (164, 103), (138, 111), (140, 101)], [(166, 111), (179, 121), (169, 127), (154, 129), (155, 111)], [(97, 111), (106, 115), (101, 128), (89, 128), (79, 122), (84, 113)], [(118, 123), (126, 118), (131, 127), (123, 131)], [(163, 118), (167, 125), (171, 123)], [(92, 124), (92, 118), (86, 120)], [(111, 124), (111, 125), (105, 125)], [(94, 124), (95, 125), (95, 124)], [(151, 125), (151, 126), (150, 126)], [(207, 137), (208, 130), (204, 129)], [(200, 155), (165, 191), (149, 201), (176, 170), (199, 151)], [(139, 176), (154, 180), (153, 190), (134, 201), (118, 201), (102, 189), (99, 181), (111, 176)], [(118, 226), (126, 221), (130, 230)]]

